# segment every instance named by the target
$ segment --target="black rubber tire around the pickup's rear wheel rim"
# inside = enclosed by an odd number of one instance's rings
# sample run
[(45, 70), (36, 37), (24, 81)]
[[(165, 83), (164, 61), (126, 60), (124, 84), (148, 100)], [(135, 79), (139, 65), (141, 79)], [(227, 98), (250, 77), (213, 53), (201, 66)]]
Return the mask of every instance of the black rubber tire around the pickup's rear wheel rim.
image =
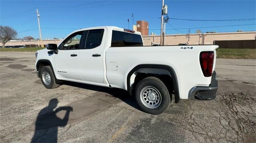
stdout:
[[(156, 105), (158, 105), (158, 107), (148, 108), (147, 106), (144, 105), (144, 104), (146, 104), (146, 100), (144, 101), (144, 103), (142, 103), (143, 99), (146, 99), (144, 97), (144, 96), (146, 96), (146, 94), (144, 95), (142, 90), (145, 91), (145, 89), (148, 89), (147, 87), (148, 88), (154, 87), (156, 89), (156, 91), (158, 90), (157, 92), (160, 92), (161, 102), (156, 104)], [(145, 93), (147, 91), (145, 91)], [(142, 92), (142, 99), (140, 97), (141, 92)], [(155, 114), (155, 115), (161, 114), (170, 106), (170, 102), (171, 102), (170, 94), (169, 94), (168, 89), (165, 86), (164, 82), (162, 82), (162, 80), (160, 80), (159, 78), (151, 76), (151, 77), (147, 77), (147, 78), (140, 80), (140, 82), (138, 82), (138, 84), (135, 87), (134, 93), (135, 93), (135, 99), (136, 99), (138, 106), (140, 106), (142, 111), (144, 111), (146, 113)], [(150, 92), (148, 92), (147, 95), (149, 95), (149, 93)], [(154, 91), (154, 93), (155, 93), (155, 91)], [(154, 95), (157, 95), (157, 94), (154, 94)], [(146, 96), (146, 97), (148, 97), (148, 96)], [(157, 96), (154, 96), (154, 98), (152, 98), (152, 99), (156, 99), (155, 97), (157, 97)], [(150, 102), (151, 101), (152, 100), (150, 100)], [(154, 101), (157, 101), (157, 100), (154, 100)], [(154, 105), (154, 106), (156, 106), (156, 105)]]

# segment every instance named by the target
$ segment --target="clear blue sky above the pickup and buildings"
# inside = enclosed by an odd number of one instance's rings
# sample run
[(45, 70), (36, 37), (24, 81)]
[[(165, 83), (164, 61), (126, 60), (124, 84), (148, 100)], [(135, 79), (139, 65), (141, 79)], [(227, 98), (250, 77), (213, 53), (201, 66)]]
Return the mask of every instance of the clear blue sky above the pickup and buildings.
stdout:
[[(190, 21), (255, 18), (255, 0), (165, 0), (165, 4), (168, 5), (169, 18), (189, 19), (170, 20), (172, 27), (166, 25), (167, 34), (187, 33), (189, 28), (192, 33), (195, 33), (196, 29), (201, 29), (202, 32), (256, 30), (255, 20)], [(131, 16), (134, 13), (135, 24), (136, 20), (146, 20), (149, 22), (149, 33), (159, 34), (161, 5), (162, 0), (0, 0), (0, 25), (16, 29), (20, 38), (27, 35), (38, 38), (38, 8), (42, 38), (53, 39), (66, 37), (75, 29), (86, 27), (113, 25), (128, 29), (128, 18), (131, 29)]]

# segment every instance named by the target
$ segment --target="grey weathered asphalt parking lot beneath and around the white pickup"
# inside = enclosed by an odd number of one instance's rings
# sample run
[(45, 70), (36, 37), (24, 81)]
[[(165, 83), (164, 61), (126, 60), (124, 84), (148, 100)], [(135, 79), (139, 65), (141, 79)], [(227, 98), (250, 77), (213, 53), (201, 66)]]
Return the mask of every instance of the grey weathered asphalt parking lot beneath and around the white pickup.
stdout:
[(160, 115), (123, 90), (46, 89), (34, 62), (34, 53), (0, 53), (0, 142), (256, 142), (256, 60), (217, 59), (215, 100), (181, 100)]

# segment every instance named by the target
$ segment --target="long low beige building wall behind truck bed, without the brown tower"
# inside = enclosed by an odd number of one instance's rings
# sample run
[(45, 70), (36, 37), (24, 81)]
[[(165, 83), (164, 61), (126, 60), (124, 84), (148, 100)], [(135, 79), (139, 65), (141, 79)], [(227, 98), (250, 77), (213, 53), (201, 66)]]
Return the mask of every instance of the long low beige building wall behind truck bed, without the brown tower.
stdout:
[[(244, 32), (218, 32), (218, 33), (190, 33), (190, 34), (171, 34), (165, 35), (164, 45), (218, 45), (218, 41), (234, 41), (254, 43), (255, 47), (256, 31), (244, 31)], [(144, 35), (144, 45), (160, 44), (160, 35)], [(253, 44), (252, 44), (253, 46)], [(242, 47), (241, 47), (242, 48)]]

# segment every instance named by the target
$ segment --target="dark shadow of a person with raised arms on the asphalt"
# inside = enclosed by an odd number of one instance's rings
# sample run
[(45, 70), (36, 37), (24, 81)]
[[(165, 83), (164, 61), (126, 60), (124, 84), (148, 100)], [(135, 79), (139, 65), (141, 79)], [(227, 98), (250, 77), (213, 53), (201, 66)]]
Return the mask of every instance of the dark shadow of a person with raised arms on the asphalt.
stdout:
[[(58, 127), (64, 127), (68, 123), (69, 114), (73, 111), (70, 106), (60, 107), (54, 110), (58, 105), (58, 99), (50, 100), (49, 105), (43, 108), (36, 118), (35, 133), (31, 143), (57, 143), (58, 141)], [(62, 110), (66, 111), (63, 119), (56, 114)]]

